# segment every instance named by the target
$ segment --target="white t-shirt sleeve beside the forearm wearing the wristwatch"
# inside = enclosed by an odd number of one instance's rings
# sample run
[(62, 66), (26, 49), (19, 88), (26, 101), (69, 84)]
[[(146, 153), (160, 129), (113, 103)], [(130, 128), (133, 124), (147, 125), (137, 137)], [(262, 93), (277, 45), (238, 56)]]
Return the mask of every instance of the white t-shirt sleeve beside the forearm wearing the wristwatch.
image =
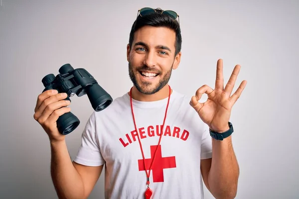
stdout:
[(212, 158), (212, 137), (210, 136), (209, 126), (204, 123), (201, 139), (200, 159)]

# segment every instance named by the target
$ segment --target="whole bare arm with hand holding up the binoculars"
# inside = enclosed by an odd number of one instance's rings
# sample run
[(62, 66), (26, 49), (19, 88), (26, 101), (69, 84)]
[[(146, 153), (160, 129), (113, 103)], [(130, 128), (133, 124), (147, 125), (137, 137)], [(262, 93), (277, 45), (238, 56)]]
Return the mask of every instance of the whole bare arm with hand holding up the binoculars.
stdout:
[[(68, 154), (65, 135), (59, 133), (57, 119), (70, 111), (67, 95), (58, 94), (55, 90), (47, 90), (40, 94), (34, 109), (34, 119), (43, 127), (50, 139), (51, 177), (59, 199), (85, 199), (95, 186), (103, 169), (103, 164), (88, 167), (72, 163)], [(92, 126), (91, 121), (87, 124)], [(94, 129), (86, 130), (94, 132)], [(87, 132), (83, 135), (86, 143)]]

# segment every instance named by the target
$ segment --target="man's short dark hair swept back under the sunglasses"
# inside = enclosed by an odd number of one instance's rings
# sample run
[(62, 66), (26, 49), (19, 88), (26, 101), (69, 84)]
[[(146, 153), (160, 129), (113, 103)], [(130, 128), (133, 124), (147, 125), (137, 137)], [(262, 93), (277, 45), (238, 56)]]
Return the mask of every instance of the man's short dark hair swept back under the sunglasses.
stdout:
[(152, 14), (145, 16), (138, 15), (137, 19), (134, 21), (129, 38), (129, 46), (132, 48), (132, 43), (134, 40), (134, 33), (142, 28), (143, 26), (150, 25), (153, 27), (167, 27), (175, 32), (175, 55), (180, 52), (182, 45), (182, 37), (180, 32), (179, 23), (177, 20), (173, 20), (170, 16), (166, 14), (161, 14), (163, 10), (156, 8), (156, 11)]

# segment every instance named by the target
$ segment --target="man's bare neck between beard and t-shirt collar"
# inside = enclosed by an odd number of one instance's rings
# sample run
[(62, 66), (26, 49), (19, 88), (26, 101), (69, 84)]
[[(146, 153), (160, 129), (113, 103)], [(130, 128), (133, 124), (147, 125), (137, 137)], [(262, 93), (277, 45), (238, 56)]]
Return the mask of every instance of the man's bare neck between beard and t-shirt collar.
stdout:
[[(172, 90), (170, 91), (170, 94), (172, 93)], [(129, 92), (130, 95), (130, 92)], [(158, 91), (155, 94), (151, 95), (145, 95), (140, 93), (135, 86), (132, 88), (132, 99), (138, 100), (138, 101), (157, 101), (157, 100), (163, 100), (165, 98), (168, 98), (169, 96), (169, 87), (168, 84), (165, 85), (160, 91)]]

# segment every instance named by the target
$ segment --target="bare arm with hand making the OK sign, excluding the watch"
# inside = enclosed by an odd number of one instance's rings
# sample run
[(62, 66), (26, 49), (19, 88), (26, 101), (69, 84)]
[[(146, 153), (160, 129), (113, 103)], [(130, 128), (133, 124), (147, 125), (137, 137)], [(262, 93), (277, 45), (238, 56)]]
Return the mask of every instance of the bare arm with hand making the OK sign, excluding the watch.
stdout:
[[(241, 66), (236, 65), (227, 85), (224, 88), (222, 60), (217, 62), (215, 89), (207, 85), (200, 87), (191, 98), (190, 105), (210, 129), (225, 132), (229, 129), (228, 122), (231, 109), (240, 98), (247, 81), (242, 81), (237, 91), (232, 94)], [(203, 94), (208, 99), (201, 103)], [(212, 139), (212, 159), (202, 160), (201, 169), (205, 185), (215, 198), (232, 199), (237, 194), (239, 166), (232, 147), (231, 136), (224, 140)]]

